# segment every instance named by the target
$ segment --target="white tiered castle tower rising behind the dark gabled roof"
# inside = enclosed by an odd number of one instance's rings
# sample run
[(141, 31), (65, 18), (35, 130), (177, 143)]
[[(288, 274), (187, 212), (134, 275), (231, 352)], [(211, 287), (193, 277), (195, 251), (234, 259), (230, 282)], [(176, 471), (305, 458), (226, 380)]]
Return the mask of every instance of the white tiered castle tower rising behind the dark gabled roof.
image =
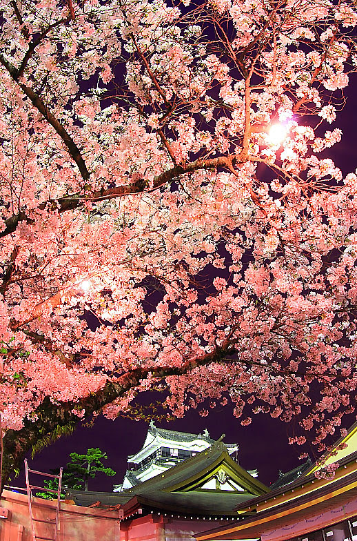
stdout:
[[(125, 489), (131, 489), (133, 486), (141, 484), (156, 475), (163, 473), (191, 458), (201, 451), (205, 451), (215, 440), (212, 440), (207, 429), (203, 434), (190, 434), (186, 432), (175, 432), (172, 430), (159, 429), (154, 421), (150, 422), (147, 435), (142, 449), (135, 455), (128, 456), (128, 470), (125, 472), (123, 482), (114, 485), (114, 492), (121, 492)], [(238, 444), (223, 444), (229, 455), (237, 459)], [(250, 475), (256, 477), (257, 472), (249, 471)], [(232, 480), (221, 479), (221, 486), (217, 487), (220, 480), (210, 480), (205, 486), (206, 489), (217, 489), (234, 491), (237, 489)], [(227, 485), (227, 486), (225, 486)], [(228, 486), (229, 485), (229, 486)]]

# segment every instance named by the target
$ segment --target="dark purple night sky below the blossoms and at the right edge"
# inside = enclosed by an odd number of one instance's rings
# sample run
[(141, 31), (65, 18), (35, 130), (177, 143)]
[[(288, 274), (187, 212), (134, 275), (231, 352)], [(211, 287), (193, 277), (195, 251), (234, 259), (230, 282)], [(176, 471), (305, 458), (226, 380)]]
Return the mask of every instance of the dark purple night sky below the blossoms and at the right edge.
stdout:
[[(338, 121), (331, 126), (324, 124), (325, 130), (335, 127), (343, 129), (343, 139), (336, 147), (329, 149), (324, 157), (332, 157), (336, 166), (343, 170), (344, 175), (356, 170), (356, 93), (357, 77), (351, 77), (351, 86), (348, 89), (349, 99)], [(150, 397), (149, 397), (150, 400)], [(157, 400), (157, 396), (154, 397)], [(355, 417), (350, 416), (345, 422), (348, 428)], [(272, 419), (269, 415), (253, 416), (252, 424), (241, 426), (240, 420), (232, 414), (228, 406), (217, 406), (208, 417), (201, 417), (198, 411), (191, 410), (183, 419), (170, 423), (157, 423), (162, 428), (202, 433), (208, 429), (210, 436), (218, 439), (225, 433), (225, 442), (239, 444), (239, 462), (245, 469), (258, 469), (258, 478), (265, 484), (271, 484), (278, 478), (278, 471), (289, 471), (300, 461), (298, 455), (302, 451), (287, 442), (287, 433), (294, 433), (292, 424), (285, 424)], [(58, 466), (65, 466), (69, 460), (69, 453), (76, 451), (84, 453), (90, 447), (100, 447), (108, 453), (105, 465), (116, 470), (116, 475), (107, 478), (99, 473), (95, 480), (90, 480), (89, 489), (99, 491), (112, 491), (113, 484), (123, 480), (126, 469), (127, 456), (141, 449), (147, 432), (147, 422), (134, 421), (119, 417), (115, 421), (99, 417), (92, 427), (79, 426), (69, 437), (62, 437), (52, 446), (37, 454), (30, 467), (40, 471), (50, 471)], [(336, 435), (336, 439), (338, 438)], [(309, 451), (309, 449), (304, 449)], [(312, 455), (312, 459), (314, 456)], [(13, 485), (24, 486), (24, 474), (21, 471), (19, 478)]]

